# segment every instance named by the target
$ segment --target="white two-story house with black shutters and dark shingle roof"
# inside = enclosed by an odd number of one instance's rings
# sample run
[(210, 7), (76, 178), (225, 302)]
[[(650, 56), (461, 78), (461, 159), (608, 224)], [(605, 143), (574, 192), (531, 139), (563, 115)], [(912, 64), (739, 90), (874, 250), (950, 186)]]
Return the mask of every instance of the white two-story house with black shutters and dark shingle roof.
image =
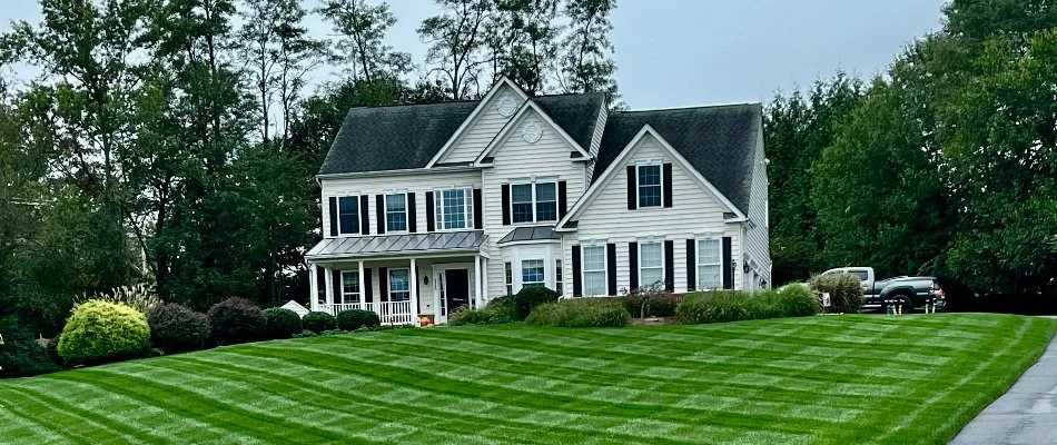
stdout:
[(481, 100), (350, 110), (317, 178), (313, 310), (443, 324), (525, 286), (770, 281), (759, 103), (609, 112), (502, 79)]

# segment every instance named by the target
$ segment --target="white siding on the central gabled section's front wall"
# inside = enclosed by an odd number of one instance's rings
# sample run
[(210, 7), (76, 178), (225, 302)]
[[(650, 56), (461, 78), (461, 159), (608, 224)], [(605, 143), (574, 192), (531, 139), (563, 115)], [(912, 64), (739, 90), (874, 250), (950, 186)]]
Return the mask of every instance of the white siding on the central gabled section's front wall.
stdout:
[[(530, 123), (540, 126), (543, 131), (535, 144), (530, 144), (522, 137), (522, 129)], [(512, 131), (507, 134), (505, 140), (500, 141), (500, 146), (493, 154), (495, 158), (493, 167), (483, 172), (484, 228), (488, 234), (484, 250), (493, 259), (488, 264), (490, 297), (506, 293), (503, 253), (500, 251), (496, 243), (518, 227), (518, 225), (503, 226), (502, 185), (530, 181), (533, 178), (541, 181), (563, 180), (566, 187), (567, 207), (572, 209), (573, 204), (584, 192), (584, 165), (570, 159), (569, 154), (575, 148), (534, 110), (530, 110), (517, 122), (513, 122)]]

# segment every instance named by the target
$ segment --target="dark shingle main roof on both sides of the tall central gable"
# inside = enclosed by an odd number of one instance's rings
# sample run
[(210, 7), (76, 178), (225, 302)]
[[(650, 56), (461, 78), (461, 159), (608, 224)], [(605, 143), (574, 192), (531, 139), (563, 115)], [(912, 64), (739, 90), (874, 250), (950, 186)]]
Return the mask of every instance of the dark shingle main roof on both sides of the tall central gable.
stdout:
[[(532, 99), (585, 151), (605, 95)], [(319, 175), (424, 168), (470, 117), (478, 100), (357, 107), (348, 111)]]

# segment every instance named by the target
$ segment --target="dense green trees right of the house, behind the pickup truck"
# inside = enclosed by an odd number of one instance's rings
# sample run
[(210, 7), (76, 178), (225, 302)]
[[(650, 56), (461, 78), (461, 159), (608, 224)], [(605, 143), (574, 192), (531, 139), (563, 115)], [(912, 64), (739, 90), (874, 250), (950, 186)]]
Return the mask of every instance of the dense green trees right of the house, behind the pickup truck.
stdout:
[(870, 80), (768, 107), (774, 280), (840, 266), (967, 295), (1057, 286), (1057, 10), (955, 0)]

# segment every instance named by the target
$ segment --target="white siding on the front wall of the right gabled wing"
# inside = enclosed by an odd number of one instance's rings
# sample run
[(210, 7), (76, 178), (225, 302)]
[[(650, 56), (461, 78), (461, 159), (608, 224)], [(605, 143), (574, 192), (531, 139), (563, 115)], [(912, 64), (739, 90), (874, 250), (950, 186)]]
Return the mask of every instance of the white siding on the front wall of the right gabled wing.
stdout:
[[(732, 258), (741, 257), (741, 224), (723, 221), (725, 211), (690, 172), (685, 171), (652, 136), (632, 147), (622, 165), (610, 168), (615, 176), (580, 215), (576, 231), (564, 236), (564, 257), (569, 265), (565, 294), (573, 295), (572, 246), (575, 244), (616, 245), (616, 288), (629, 289), (628, 243), (649, 239), (673, 240), (675, 291), (686, 291), (686, 239), (713, 234), (731, 237)], [(672, 162), (672, 207), (628, 209), (628, 174), (625, 167), (636, 161)], [(668, 265), (665, 265), (668, 266)], [(734, 274), (734, 287), (741, 288), (741, 274)]]

